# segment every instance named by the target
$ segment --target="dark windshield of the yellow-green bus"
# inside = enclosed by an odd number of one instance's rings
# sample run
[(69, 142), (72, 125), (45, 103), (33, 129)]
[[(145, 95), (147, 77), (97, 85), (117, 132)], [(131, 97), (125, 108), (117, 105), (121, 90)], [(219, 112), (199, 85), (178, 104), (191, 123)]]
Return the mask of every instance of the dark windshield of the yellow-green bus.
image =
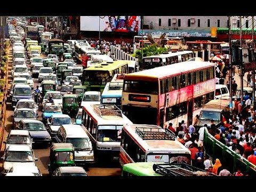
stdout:
[(107, 82), (111, 81), (111, 76), (109, 71), (86, 71), (85, 81), (94, 85), (105, 85)]

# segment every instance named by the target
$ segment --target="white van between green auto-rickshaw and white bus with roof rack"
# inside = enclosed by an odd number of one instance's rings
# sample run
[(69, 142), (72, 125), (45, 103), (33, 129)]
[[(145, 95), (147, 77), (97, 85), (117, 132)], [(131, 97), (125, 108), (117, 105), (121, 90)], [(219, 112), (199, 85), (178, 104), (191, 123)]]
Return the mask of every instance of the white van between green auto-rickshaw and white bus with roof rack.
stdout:
[(55, 140), (58, 143), (73, 144), (76, 164), (94, 162), (92, 142), (81, 125), (61, 125)]

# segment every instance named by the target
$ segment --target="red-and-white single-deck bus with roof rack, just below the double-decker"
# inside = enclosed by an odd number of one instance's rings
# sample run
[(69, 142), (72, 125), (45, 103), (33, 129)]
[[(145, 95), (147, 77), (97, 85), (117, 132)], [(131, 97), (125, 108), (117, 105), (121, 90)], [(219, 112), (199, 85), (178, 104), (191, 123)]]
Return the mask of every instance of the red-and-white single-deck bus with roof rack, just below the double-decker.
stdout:
[(134, 162), (191, 164), (190, 151), (175, 134), (157, 125), (124, 125), (119, 162), (121, 166)]

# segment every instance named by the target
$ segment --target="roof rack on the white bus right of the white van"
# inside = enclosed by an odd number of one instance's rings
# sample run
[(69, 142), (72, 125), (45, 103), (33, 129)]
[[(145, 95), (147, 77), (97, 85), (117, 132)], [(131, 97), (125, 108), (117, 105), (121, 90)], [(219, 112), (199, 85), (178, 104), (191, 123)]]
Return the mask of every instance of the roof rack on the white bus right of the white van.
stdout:
[(119, 109), (116, 105), (93, 105), (94, 111), (100, 116), (118, 116), (118, 117), (123, 117), (122, 116), (122, 110)]

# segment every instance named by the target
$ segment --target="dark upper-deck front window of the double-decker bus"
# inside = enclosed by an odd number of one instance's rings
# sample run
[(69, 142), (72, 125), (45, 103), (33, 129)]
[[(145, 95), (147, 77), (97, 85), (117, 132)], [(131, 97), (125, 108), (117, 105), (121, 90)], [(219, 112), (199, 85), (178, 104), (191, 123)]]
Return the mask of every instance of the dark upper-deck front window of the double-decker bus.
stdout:
[(135, 93), (158, 94), (158, 84), (157, 82), (149, 81), (125, 81), (124, 91)]

